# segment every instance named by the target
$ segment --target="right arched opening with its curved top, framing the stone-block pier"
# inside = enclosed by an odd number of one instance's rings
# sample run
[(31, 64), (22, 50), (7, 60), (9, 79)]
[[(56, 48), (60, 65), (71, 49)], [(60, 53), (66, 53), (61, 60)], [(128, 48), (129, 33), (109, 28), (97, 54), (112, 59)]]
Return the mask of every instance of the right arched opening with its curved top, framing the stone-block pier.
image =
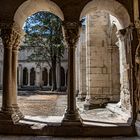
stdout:
[(125, 36), (120, 38), (118, 33), (129, 27), (129, 14), (116, 1), (95, 0), (84, 7), (80, 18), (83, 25), (76, 50), (76, 90), (81, 116), (85, 120), (112, 122), (115, 117), (106, 119), (108, 109), (119, 110), (123, 119), (116, 122), (126, 123), (131, 118), (131, 93)]

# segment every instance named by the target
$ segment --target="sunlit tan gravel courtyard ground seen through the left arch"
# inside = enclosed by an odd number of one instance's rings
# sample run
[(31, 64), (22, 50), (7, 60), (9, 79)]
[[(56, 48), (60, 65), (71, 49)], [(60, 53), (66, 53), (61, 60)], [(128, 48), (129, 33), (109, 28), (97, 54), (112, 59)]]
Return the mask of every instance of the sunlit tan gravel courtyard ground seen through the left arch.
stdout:
[(25, 115), (62, 116), (66, 108), (66, 95), (18, 96), (18, 104)]

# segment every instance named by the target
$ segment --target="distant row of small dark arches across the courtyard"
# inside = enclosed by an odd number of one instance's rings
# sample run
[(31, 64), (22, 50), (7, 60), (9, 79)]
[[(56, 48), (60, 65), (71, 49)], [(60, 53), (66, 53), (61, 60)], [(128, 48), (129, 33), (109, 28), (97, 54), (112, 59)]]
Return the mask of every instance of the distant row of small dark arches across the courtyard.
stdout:
[[(51, 81), (51, 68), (43, 67), (41, 70), (36, 69), (36, 67), (28, 68), (19, 65), (20, 69), (18, 69), (18, 87), (46, 87), (48, 90), (52, 85)], [(61, 87), (66, 88), (66, 71), (63, 67), (61, 67)], [(59, 81), (58, 81), (59, 82)]]

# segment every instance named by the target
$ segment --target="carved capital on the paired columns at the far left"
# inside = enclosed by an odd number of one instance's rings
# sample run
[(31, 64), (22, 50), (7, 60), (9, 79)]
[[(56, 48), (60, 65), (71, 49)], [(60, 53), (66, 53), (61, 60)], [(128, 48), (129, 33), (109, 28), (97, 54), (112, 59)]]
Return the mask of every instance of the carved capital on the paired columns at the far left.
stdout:
[(1, 38), (4, 47), (7, 48), (17, 48), (19, 47), (20, 38), (23, 34), (22, 29), (15, 24), (15, 23), (9, 23), (9, 24), (0, 24), (1, 28)]

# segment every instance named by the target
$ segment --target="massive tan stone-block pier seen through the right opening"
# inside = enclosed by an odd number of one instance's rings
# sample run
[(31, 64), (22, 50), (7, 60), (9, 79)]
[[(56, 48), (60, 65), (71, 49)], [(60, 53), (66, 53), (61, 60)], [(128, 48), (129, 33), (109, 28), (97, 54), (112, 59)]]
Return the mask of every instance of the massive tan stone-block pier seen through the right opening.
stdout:
[(86, 103), (102, 106), (120, 99), (119, 47), (112, 42), (109, 14), (95, 12), (86, 19)]

